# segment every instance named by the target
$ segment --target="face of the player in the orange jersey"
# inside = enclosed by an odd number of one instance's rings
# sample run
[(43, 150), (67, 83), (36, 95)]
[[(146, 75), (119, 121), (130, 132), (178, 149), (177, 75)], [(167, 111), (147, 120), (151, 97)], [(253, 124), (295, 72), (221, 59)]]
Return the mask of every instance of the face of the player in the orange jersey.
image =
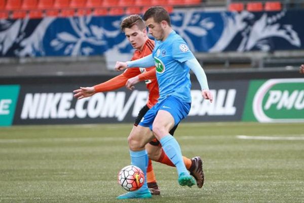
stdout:
[(146, 40), (146, 29), (140, 30), (137, 25), (125, 28), (125, 35), (134, 49), (141, 50)]

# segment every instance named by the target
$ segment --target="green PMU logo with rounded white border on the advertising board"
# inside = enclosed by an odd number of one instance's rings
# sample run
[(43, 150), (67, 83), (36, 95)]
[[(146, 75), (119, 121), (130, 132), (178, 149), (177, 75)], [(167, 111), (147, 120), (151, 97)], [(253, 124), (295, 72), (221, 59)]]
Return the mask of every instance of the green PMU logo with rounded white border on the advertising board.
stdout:
[(253, 113), (259, 122), (304, 121), (304, 79), (271, 79), (256, 92)]

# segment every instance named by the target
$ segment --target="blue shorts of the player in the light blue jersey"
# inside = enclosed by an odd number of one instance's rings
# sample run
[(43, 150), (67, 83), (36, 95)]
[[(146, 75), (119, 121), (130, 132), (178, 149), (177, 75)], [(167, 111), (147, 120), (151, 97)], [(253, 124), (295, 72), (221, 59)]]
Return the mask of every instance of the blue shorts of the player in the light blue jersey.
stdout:
[(174, 118), (174, 126), (177, 125), (182, 119), (184, 119), (191, 108), (191, 103), (182, 102), (175, 96), (169, 96), (153, 106), (141, 119), (139, 125), (143, 127), (149, 127), (152, 130), (154, 119), (159, 110), (165, 110), (169, 112)]

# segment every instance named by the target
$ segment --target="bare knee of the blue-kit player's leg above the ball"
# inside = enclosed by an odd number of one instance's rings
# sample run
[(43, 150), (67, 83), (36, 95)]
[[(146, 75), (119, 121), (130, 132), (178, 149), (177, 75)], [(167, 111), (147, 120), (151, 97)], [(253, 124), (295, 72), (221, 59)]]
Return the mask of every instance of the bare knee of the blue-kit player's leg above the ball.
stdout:
[(128, 137), (128, 143), (131, 150), (144, 149), (145, 144), (154, 138), (153, 133), (149, 127), (141, 125), (133, 126), (131, 133)]

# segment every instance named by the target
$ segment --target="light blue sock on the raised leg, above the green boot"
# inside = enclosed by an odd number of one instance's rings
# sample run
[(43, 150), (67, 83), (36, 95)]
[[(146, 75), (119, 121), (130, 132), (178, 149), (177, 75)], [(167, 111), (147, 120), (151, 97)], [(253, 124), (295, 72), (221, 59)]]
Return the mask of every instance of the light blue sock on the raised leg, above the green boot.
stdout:
[(163, 137), (160, 140), (162, 147), (166, 153), (166, 155), (170, 158), (172, 163), (176, 166), (178, 175), (180, 173), (188, 173), (187, 168), (183, 162), (181, 150), (178, 142), (175, 140), (171, 134)]

